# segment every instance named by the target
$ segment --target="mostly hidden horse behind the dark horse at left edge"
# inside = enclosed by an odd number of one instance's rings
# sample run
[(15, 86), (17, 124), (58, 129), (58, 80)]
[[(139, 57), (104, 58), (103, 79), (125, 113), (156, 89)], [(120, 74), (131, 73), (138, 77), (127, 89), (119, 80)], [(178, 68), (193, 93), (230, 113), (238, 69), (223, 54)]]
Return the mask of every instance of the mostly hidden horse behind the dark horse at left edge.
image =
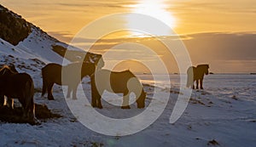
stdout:
[[(0, 70), (0, 76), (1, 75), (12, 75), (18, 73), (18, 71), (15, 69), (15, 65), (3, 65), (3, 67)], [(3, 106), (4, 104), (4, 96), (0, 98), (0, 105)], [(8, 99), (8, 105), (14, 108), (14, 102), (13, 99)]]

